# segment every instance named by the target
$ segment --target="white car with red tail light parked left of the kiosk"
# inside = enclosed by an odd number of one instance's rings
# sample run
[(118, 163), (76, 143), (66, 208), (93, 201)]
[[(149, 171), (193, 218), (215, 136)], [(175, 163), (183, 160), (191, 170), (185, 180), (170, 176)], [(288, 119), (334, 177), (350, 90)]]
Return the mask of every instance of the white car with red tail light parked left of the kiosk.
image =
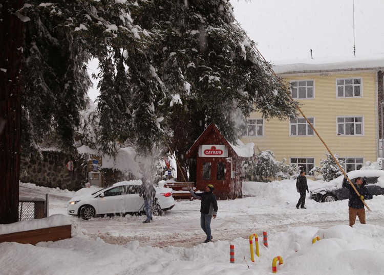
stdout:
[[(74, 197), (68, 202), (68, 214), (88, 220), (104, 214), (142, 214), (144, 200), (139, 196), (140, 181), (121, 181), (91, 195)], [(155, 187), (156, 196), (152, 204), (154, 215), (175, 206), (172, 189)]]

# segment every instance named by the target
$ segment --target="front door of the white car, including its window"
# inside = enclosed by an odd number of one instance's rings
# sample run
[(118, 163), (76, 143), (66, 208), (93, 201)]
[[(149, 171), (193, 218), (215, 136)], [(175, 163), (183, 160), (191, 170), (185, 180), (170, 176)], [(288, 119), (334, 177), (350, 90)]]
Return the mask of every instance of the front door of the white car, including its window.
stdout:
[(125, 213), (124, 186), (116, 186), (105, 190), (104, 197), (99, 197), (99, 214)]

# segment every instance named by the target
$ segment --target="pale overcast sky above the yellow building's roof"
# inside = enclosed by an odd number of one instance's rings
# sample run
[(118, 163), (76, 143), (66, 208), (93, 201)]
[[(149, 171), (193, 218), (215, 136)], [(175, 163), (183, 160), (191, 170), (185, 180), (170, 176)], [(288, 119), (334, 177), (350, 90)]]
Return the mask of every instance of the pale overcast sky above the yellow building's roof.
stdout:
[[(353, 57), (353, 0), (230, 0), (267, 61)], [(356, 57), (384, 53), (384, 0), (354, 0)]]

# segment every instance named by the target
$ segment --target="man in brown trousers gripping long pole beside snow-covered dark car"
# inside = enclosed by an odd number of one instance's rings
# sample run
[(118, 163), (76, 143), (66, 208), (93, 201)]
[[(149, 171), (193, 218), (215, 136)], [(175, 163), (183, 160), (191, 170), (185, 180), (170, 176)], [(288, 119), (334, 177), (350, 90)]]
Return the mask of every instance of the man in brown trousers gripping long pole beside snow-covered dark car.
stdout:
[(359, 192), (358, 196), (353, 189), (353, 187), (348, 182), (347, 175), (344, 174), (343, 187), (349, 189), (349, 201), (348, 201), (348, 212), (349, 212), (349, 226), (353, 226), (356, 221), (356, 216), (359, 217), (359, 221), (362, 224), (366, 223), (366, 210), (364, 208), (364, 199), (372, 199), (371, 193), (369, 193), (368, 188), (365, 187), (366, 180), (365, 178), (357, 177), (355, 179), (355, 188)]

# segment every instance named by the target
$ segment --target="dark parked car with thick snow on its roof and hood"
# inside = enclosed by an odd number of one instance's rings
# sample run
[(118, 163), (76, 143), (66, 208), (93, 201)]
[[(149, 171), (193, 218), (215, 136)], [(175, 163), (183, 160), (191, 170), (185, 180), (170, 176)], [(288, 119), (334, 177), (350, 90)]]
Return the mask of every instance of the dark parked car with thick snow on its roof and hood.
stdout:
[[(369, 192), (375, 195), (384, 195), (384, 188), (381, 188), (377, 184), (377, 179), (381, 176), (384, 176), (383, 170), (355, 170), (348, 172), (348, 177), (352, 182), (355, 182), (357, 177), (366, 177), (366, 187)], [(332, 179), (329, 182), (325, 183), (323, 188), (317, 188), (311, 190), (310, 199), (313, 199), (317, 202), (328, 202), (335, 200), (349, 199), (349, 189), (343, 188), (343, 178), (344, 176), (339, 176), (335, 179)], [(384, 186), (383, 186), (384, 187)]]

